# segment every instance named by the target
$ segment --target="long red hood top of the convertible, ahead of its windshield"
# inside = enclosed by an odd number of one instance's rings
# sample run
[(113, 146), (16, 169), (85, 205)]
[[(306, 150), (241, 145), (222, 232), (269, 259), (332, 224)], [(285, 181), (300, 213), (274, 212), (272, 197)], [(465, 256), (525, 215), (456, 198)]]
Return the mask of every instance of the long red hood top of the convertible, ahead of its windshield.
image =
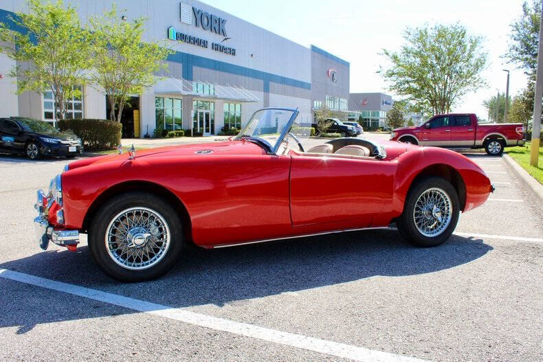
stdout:
[[(263, 148), (248, 141), (225, 141), (212, 142), (206, 144), (188, 144), (184, 146), (168, 146), (149, 148), (147, 150), (136, 150), (137, 159), (154, 159), (162, 157), (204, 157), (206, 155), (263, 155)], [(107, 155), (101, 157), (93, 157), (82, 159), (69, 164), (69, 169), (89, 166), (91, 164), (115, 162), (127, 159), (129, 153), (125, 152), (121, 155)]]

